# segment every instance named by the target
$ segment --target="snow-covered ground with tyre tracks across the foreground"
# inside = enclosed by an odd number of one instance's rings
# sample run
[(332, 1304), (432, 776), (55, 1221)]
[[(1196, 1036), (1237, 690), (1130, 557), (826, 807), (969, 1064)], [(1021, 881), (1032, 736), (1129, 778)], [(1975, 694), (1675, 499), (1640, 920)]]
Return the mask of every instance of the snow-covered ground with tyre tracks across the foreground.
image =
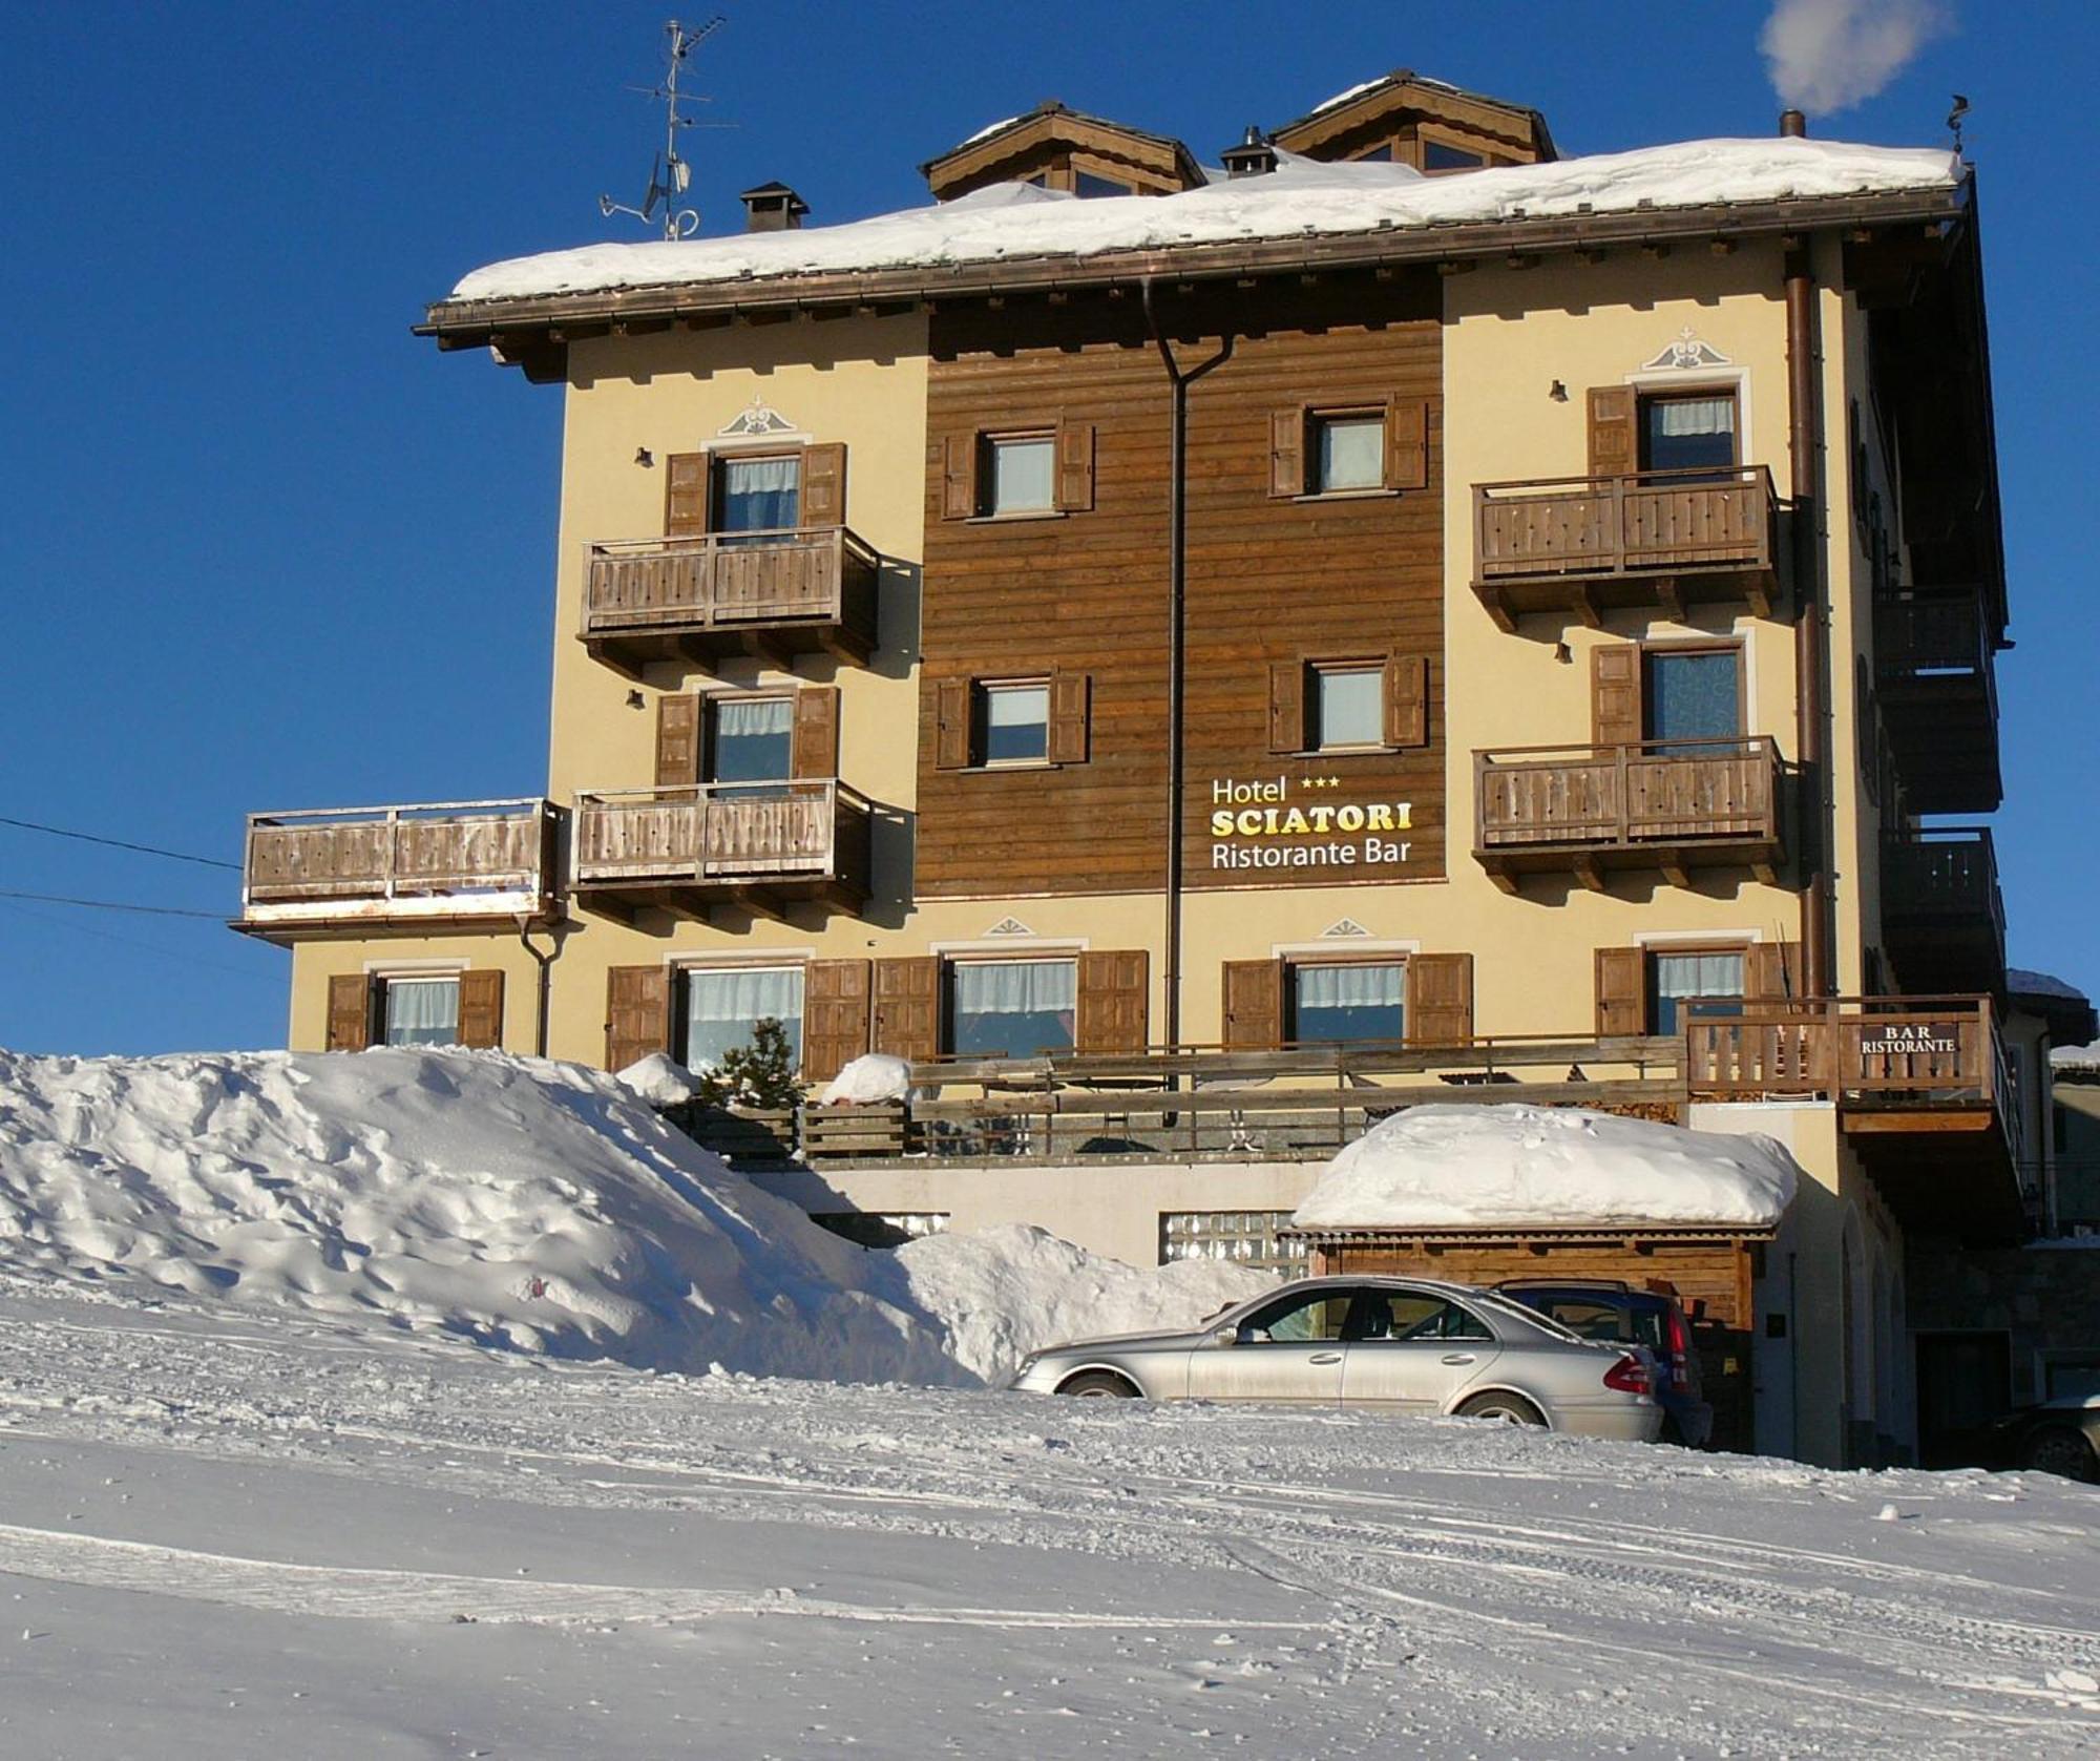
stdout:
[(0, 1753), (2100, 1744), (2100, 1494), (0, 1290)]

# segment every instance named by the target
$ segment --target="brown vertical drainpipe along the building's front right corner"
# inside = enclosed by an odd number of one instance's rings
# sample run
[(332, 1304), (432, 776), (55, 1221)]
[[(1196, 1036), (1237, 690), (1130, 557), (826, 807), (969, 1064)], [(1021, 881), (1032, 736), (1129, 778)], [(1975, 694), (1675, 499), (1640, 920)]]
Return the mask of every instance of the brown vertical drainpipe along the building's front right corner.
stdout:
[[(1779, 132), (1804, 137), (1798, 109), (1781, 111)], [(1831, 782), (1825, 744), (1829, 635), (1823, 593), (1821, 422), (1816, 399), (1816, 282), (1812, 242), (1787, 248), (1787, 464), (1793, 477), (1796, 744), (1802, 765), (1802, 996), (1829, 996), (1831, 973)]]

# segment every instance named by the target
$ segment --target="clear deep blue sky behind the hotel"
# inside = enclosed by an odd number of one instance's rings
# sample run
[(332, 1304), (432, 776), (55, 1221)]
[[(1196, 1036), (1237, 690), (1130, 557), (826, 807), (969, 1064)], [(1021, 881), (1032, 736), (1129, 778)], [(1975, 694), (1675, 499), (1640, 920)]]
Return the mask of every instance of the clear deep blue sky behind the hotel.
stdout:
[[(689, 137), (708, 231), (924, 200), (918, 164), (1058, 97), (1212, 158), (1396, 65), (1541, 107), (1567, 153), (1762, 134), (1764, 4), (722, 0)], [(655, 4), (15, 4), (0, 17), (0, 817), (239, 859), (271, 807), (529, 794), (546, 771), (561, 397), (410, 336), (481, 263), (634, 235)], [(695, 8), (695, 17), (706, 13)], [(1142, 25), (1138, 19), (1142, 17)], [(326, 19), (326, 23), (323, 23)], [(1609, 19), (1609, 25), (1604, 23)], [(2090, 876), (2100, 8), (1961, 0), (1814, 132), (1974, 103), (2018, 649), (2012, 956), (2100, 988)], [(0, 889), (231, 916), (227, 870), (0, 824)], [(0, 1044), (281, 1044), (290, 958), (218, 923), (0, 897)]]

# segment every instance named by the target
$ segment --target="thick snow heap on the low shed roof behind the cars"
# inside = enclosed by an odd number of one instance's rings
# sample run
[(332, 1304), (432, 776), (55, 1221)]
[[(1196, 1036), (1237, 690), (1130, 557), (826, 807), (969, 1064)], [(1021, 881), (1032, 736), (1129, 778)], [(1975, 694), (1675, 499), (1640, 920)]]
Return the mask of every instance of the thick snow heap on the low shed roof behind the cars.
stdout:
[(1772, 1227), (1800, 1168), (1770, 1137), (1579, 1107), (1409, 1107), (1336, 1156), (1302, 1227), (1670, 1223)]

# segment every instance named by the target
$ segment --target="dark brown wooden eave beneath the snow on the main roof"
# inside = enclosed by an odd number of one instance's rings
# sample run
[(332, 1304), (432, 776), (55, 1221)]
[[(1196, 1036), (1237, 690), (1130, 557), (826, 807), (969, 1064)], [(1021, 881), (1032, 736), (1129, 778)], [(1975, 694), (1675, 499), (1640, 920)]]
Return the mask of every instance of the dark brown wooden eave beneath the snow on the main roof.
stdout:
[(1970, 183), (1871, 195), (1814, 195), (1777, 202), (1714, 202), (1688, 208), (1636, 208), (1609, 214), (1460, 221), (1428, 227), (1378, 225), (1354, 233), (1270, 240), (1191, 242), (1090, 254), (1056, 252), (979, 263), (911, 263), (895, 269), (819, 269), (790, 275), (739, 275), (718, 282), (666, 282), (578, 294), (487, 301), (439, 301), (418, 336), (439, 349), (491, 349), (536, 385), (563, 378), (567, 345), (590, 336), (647, 334), (674, 326), (777, 322), (796, 315), (846, 317), (907, 313), (953, 303), (1042, 294), (1128, 292), (1147, 279), (1184, 284), (1262, 275), (1390, 271), (1403, 265), (1447, 273), (1483, 258), (1535, 267), (1548, 254), (1667, 248), (1705, 240), (1716, 248), (1762, 237), (1796, 237), (1842, 227), (1873, 233), (1945, 227), (1968, 214)]

